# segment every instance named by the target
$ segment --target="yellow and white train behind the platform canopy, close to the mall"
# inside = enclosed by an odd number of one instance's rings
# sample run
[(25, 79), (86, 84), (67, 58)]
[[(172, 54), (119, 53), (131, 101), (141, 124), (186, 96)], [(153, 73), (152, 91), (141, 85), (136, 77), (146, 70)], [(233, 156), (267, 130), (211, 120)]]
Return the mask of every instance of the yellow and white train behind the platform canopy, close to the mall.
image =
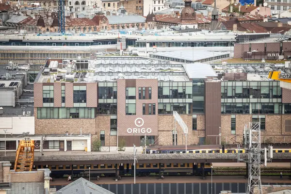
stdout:
[[(262, 144), (261, 147), (273, 146), (273, 152), (291, 152), (290, 144), (275, 144), (275, 145), (265, 145)], [(187, 152), (185, 146), (148, 146), (146, 148), (147, 154), (174, 154), (174, 153), (245, 153), (244, 146), (240, 145), (190, 145), (187, 147)]]

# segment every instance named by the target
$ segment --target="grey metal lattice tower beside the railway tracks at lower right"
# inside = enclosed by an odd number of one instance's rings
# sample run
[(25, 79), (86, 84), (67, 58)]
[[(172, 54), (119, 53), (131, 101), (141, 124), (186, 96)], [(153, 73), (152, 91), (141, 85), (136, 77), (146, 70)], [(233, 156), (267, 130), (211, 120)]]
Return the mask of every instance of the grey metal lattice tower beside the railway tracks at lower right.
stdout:
[(260, 122), (249, 124), (249, 128), (245, 126), (245, 141), (248, 145), (248, 186), (247, 194), (255, 194), (254, 189), (257, 188), (256, 194), (262, 194), (262, 186), (260, 179), (261, 165), (261, 146), (260, 146)]

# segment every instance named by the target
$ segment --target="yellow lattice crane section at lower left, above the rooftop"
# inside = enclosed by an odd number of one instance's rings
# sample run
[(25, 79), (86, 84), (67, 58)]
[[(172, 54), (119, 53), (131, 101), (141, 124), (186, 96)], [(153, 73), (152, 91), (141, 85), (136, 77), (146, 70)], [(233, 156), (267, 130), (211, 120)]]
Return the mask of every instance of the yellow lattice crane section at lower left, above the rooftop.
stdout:
[(14, 170), (16, 172), (32, 171), (33, 159), (34, 140), (30, 140), (29, 138), (20, 140), (16, 150)]

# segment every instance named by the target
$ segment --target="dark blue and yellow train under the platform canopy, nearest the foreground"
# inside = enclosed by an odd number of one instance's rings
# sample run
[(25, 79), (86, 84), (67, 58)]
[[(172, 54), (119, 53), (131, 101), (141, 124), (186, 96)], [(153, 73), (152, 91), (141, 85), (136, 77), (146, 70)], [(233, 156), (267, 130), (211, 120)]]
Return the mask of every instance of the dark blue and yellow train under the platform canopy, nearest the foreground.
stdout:
[[(116, 166), (117, 165), (117, 166)], [(136, 163), (136, 176), (186, 176), (186, 175), (202, 175), (203, 170), (205, 175), (211, 173), (212, 163)], [(73, 164), (73, 165), (34, 165), (33, 170), (49, 168), (51, 171), (50, 177), (63, 178), (68, 175), (73, 177), (88, 177), (89, 168), (91, 177), (115, 177), (133, 176), (133, 163), (120, 164)]]

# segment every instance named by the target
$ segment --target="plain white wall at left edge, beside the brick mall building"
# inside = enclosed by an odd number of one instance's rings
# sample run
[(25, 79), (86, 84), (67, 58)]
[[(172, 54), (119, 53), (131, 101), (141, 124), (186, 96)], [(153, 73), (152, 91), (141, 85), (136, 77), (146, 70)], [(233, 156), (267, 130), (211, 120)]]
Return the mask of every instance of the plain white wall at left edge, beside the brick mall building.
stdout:
[(34, 116), (13, 116), (13, 117), (0, 117), (0, 134), (7, 133), (22, 134), (29, 132), (34, 134)]

